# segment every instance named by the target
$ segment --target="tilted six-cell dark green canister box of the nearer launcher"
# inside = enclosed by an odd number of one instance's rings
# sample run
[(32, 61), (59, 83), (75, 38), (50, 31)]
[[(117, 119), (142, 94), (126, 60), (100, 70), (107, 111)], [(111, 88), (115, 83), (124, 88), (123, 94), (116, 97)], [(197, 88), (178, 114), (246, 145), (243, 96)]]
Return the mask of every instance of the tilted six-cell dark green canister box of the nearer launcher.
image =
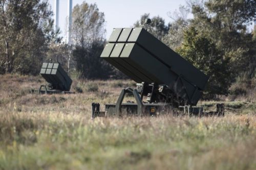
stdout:
[(208, 76), (143, 28), (114, 29), (101, 58), (137, 83), (165, 85), (187, 105), (196, 105)]

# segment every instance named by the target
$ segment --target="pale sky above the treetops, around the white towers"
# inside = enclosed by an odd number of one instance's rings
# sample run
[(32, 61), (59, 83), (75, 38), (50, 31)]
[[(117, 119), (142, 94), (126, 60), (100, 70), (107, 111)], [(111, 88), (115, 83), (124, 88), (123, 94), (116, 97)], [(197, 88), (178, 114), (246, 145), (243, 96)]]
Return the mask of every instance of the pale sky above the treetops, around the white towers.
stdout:
[[(54, 11), (54, 1), (49, 0)], [(73, 7), (82, 4), (84, 0), (73, 0)], [(100, 12), (105, 14), (106, 38), (112, 33), (113, 28), (132, 27), (135, 21), (144, 13), (150, 17), (160, 16), (168, 23), (173, 21), (167, 13), (173, 13), (180, 5), (186, 5), (186, 0), (86, 0), (89, 4), (96, 3)], [(68, 0), (59, 0), (59, 28), (61, 36), (66, 38), (66, 17), (68, 15)]]

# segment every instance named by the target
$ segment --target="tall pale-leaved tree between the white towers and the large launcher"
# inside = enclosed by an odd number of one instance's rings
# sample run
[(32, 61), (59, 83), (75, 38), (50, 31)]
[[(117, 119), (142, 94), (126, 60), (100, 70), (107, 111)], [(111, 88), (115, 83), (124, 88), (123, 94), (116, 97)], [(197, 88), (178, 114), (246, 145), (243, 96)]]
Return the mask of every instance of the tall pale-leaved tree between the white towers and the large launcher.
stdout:
[(113, 68), (99, 56), (105, 44), (104, 13), (83, 2), (73, 9), (73, 57), (80, 78), (106, 79)]

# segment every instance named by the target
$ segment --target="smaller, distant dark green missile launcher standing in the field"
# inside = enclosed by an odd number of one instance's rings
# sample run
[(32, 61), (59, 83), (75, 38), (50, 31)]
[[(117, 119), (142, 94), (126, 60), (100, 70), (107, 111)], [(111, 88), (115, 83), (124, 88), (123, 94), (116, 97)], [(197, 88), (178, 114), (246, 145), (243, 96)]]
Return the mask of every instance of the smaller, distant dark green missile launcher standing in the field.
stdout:
[(75, 93), (70, 90), (72, 80), (67, 72), (60, 66), (59, 63), (42, 63), (40, 75), (48, 82), (48, 85), (41, 85), (38, 90), (39, 94), (53, 93)]

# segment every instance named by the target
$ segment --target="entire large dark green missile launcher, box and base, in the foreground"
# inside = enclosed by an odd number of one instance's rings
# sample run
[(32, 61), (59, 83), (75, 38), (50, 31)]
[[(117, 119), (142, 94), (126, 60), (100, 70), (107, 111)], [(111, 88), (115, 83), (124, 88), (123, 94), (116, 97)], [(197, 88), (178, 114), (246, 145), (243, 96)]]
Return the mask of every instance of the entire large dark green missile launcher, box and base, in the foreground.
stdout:
[[(224, 115), (224, 105), (211, 114), (196, 107), (208, 76), (143, 28), (114, 29), (100, 57), (137, 82), (137, 88), (123, 89), (115, 104), (105, 104), (104, 112), (92, 104), (92, 117), (166, 112)], [(123, 103), (125, 93), (132, 93), (136, 102)]]

